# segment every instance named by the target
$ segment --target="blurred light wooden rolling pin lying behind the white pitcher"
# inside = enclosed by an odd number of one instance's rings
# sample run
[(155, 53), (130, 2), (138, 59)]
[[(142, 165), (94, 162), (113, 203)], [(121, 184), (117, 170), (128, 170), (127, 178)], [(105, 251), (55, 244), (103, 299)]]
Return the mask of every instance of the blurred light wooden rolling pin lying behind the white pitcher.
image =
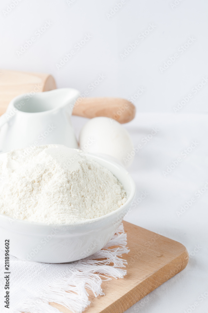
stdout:
[[(24, 93), (32, 95), (35, 92), (56, 89), (53, 76), (42, 73), (27, 73), (0, 70), (0, 115), (9, 102)], [(135, 116), (135, 106), (128, 100), (120, 98), (79, 98), (75, 103), (72, 114), (93, 118), (107, 116), (119, 123), (128, 123)]]

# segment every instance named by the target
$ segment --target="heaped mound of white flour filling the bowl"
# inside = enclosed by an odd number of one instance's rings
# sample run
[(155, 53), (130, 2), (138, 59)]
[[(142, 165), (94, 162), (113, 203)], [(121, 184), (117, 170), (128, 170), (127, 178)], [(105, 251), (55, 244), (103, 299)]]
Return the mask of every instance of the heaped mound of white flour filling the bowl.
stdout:
[(0, 213), (47, 224), (110, 213), (126, 202), (118, 179), (97, 162), (62, 145), (0, 154)]

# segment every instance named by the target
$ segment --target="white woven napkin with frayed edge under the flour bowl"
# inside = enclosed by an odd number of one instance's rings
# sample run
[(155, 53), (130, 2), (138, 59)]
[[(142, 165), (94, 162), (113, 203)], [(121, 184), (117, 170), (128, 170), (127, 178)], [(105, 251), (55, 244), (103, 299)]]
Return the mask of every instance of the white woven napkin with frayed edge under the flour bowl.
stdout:
[(4, 307), (4, 277), (8, 274), (4, 274), (4, 252), (0, 250), (0, 312), (60, 313), (49, 302), (64, 305), (75, 313), (82, 312), (90, 304), (86, 288), (95, 297), (104, 295), (102, 280), (110, 279), (106, 275), (114, 278), (126, 275), (126, 270), (121, 269), (127, 264), (121, 258), (122, 254), (129, 252), (126, 244), (122, 224), (102, 250), (70, 264), (27, 262), (10, 256), (9, 310)]

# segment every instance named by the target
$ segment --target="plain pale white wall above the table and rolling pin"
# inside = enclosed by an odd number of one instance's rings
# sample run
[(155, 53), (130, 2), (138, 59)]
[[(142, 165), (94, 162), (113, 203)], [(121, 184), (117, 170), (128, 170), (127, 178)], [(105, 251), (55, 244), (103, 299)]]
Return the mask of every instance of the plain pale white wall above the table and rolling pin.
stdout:
[[(16, 0), (17, 1), (17, 0)], [(73, 1), (73, 2), (72, 2)], [(205, 0), (125, 0), (122, 8), (107, 17), (120, 1), (22, 0), (4, 13), (12, 0), (2, 0), (0, 8), (0, 67), (51, 73), (58, 87), (88, 89), (99, 74), (106, 78), (90, 96), (129, 98), (139, 87), (145, 92), (135, 99), (140, 112), (173, 112), (191, 89), (208, 75), (207, 12)], [(5, 16), (6, 14), (6, 16)], [(44, 26), (52, 25), (22, 55), (17, 50)], [(120, 54), (139, 34), (156, 27), (123, 60)], [(92, 38), (61, 68), (60, 63), (85, 33)], [(178, 52), (189, 37), (195, 41)], [(169, 57), (178, 59), (161, 73)], [(207, 112), (208, 83), (193, 95), (179, 113)]]

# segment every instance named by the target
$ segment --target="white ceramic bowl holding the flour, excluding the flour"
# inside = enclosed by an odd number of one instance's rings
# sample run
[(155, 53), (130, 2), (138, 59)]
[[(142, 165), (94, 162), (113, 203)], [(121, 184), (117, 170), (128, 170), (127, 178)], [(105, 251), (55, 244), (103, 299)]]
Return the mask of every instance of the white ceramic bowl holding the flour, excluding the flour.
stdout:
[(118, 178), (127, 192), (126, 203), (109, 214), (71, 225), (47, 225), (0, 214), (2, 250), (5, 250), (5, 239), (9, 239), (10, 254), (19, 259), (65, 263), (94, 254), (109, 242), (131, 206), (136, 186), (129, 173), (116, 162), (90, 153), (85, 156), (108, 168)]

